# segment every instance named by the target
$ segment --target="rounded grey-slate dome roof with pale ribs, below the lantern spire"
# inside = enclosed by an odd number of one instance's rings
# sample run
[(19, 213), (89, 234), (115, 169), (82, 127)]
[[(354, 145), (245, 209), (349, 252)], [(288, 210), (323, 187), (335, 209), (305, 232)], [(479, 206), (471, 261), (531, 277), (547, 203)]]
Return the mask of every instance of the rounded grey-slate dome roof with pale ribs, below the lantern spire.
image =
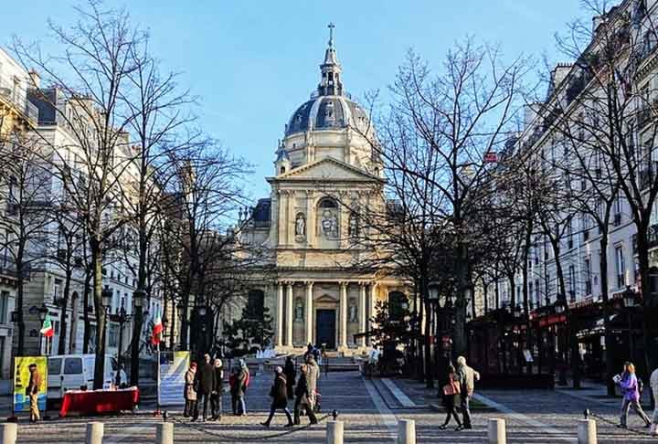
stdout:
[(345, 96), (317, 96), (303, 103), (286, 125), (285, 135), (315, 130), (361, 128), (367, 122), (366, 111)]

